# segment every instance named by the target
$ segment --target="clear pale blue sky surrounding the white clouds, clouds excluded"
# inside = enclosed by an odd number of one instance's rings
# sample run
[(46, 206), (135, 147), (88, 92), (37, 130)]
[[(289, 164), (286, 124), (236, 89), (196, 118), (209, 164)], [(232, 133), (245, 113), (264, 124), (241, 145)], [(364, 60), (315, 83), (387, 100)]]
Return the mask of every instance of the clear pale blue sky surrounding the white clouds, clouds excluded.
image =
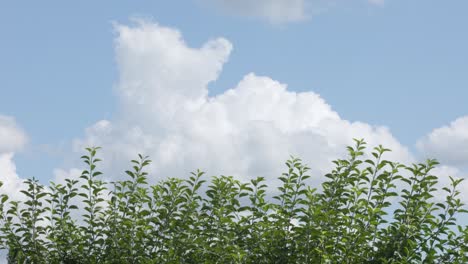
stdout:
[[(1, 3), (0, 115), (14, 118), (28, 137), (15, 154), (17, 174), (53, 179), (55, 168), (75, 166), (69, 157), (79, 153), (72, 145), (89, 142), (86, 128), (103, 119), (121, 122), (126, 110), (116, 88), (121, 72), (113, 23), (132, 25), (132, 17), (180, 31), (193, 48), (217, 37), (232, 44), (222, 72), (208, 84), (210, 96), (254, 72), (289, 91), (320, 95), (342, 120), (388, 127), (413, 156), (449, 155), (442, 145), (453, 131), (442, 133), (436, 146), (416, 143), (468, 115), (467, 1), (305, 0), (304, 18), (294, 21), (216, 2)], [(468, 146), (464, 123), (453, 130), (461, 143), (451, 146)], [(463, 168), (461, 157), (442, 159)]]

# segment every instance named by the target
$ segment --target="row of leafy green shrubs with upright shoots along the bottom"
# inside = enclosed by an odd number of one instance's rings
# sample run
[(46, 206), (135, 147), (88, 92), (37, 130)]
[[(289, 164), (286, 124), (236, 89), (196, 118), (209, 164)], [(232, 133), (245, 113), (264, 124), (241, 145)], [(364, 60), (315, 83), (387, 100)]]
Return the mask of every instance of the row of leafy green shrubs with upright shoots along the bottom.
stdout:
[(141, 155), (127, 180), (106, 182), (97, 151), (87, 149), (79, 179), (27, 180), (22, 202), (0, 194), (9, 263), (468, 262), (461, 180), (438, 190), (435, 160), (405, 166), (356, 140), (321, 186), (292, 157), (272, 191), (263, 177), (206, 182), (201, 171), (149, 186)]

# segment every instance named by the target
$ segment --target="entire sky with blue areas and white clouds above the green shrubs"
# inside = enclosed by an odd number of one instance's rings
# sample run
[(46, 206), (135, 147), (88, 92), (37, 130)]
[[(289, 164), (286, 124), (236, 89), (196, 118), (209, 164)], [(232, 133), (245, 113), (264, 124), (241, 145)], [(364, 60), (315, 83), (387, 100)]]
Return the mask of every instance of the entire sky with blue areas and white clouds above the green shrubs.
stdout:
[[(322, 175), (352, 138), (468, 167), (468, 2), (0, 1), (0, 181)], [(319, 176), (317, 176), (319, 177)], [(468, 188), (468, 184), (464, 185)], [(466, 194), (468, 201), (468, 194)]]

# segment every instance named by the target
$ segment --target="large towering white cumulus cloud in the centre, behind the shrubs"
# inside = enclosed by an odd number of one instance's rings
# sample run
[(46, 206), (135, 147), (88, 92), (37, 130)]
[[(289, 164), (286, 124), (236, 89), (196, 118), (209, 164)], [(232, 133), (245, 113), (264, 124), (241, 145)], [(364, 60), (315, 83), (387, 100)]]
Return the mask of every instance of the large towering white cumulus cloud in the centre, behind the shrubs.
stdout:
[[(320, 95), (297, 93), (269, 77), (247, 74), (232, 89), (208, 95), (232, 45), (219, 38), (189, 47), (172, 28), (138, 21), (116, 25), (120, 115), (101, 120), (74, 141), (75, 151), (103, 147), (104, 171), (123, 176), (137, 153), (150, 155), (156, 178), (210, 175), (275, 179), (289, 155), (315, 175), (345, 155), (352, 138), (392, 148), (389, 158), (412, 157), (386, 127), (340, 118)], [(154, 176), (153, 176), (154, 177)]]

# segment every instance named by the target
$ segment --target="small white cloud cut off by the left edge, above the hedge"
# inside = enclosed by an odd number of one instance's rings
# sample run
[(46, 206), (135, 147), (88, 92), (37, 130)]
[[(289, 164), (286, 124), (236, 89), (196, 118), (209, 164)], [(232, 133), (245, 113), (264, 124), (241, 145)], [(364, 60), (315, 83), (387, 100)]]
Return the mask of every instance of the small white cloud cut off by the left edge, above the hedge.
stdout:
[(14, 118), (0, 115), (0, 181), (3, 182), (0, 193), (5, 193), (14, 199), (22, 196), (18, 190), (23, 185), (23, 179), (16, 173), (13, 157), (26, 142), (26, 134), (16, 124)]

